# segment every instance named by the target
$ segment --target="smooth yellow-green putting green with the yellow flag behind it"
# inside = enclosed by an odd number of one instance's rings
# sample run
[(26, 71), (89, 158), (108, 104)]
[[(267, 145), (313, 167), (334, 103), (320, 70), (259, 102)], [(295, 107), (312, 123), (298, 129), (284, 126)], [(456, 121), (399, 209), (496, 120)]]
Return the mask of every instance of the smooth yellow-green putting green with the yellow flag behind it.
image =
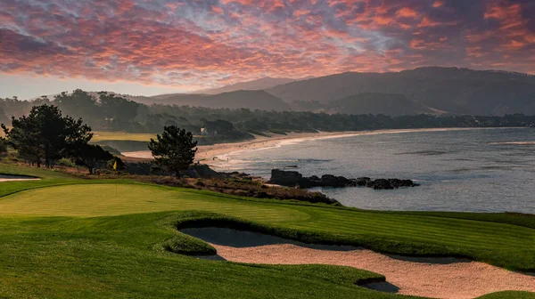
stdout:
[(309, 219), (309, 214), (284, 206), (140, 184), (54, 186), (21, 191), (0, 198), (0, 215), (92, 217), (183, 210), (217, 212), (254, 221), (285, 222)]

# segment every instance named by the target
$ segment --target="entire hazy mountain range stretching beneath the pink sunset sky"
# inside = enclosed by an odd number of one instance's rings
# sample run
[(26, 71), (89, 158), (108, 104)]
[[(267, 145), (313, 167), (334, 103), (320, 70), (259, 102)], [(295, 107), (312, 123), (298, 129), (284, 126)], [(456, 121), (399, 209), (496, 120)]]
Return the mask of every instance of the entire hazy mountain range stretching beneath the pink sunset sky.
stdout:
[(123, 95), (147, 105), (325, 113), (535, 115), (535, 76), (427, 67), (400, 72), (347, 72), (325, 77), (265, 77), (195, 93)]

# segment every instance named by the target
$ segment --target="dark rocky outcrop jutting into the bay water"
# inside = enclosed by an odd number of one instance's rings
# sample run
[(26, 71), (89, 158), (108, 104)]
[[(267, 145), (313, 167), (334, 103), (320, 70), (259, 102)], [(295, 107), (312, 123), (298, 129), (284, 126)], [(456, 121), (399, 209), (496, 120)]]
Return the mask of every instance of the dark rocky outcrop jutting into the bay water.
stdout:
[(313, 188), (313, 187), (367, 187), (374, 190), (392, 190), (402, 187), (416, 187), (419, 184), (412, 180), (401, 179), (371, 179), (369, 177), (359, 177), (357, 179), (348, 179), (344, 176), (336, 176), (333, 174), (324, 174), (321, 177), (312, 175), (309, 177), (303, 176), (296, 171), (284, 171), (280, 169), (273, 169), (271, 171), (271, 179), (268, 183), (295, 187), (295, 188)]

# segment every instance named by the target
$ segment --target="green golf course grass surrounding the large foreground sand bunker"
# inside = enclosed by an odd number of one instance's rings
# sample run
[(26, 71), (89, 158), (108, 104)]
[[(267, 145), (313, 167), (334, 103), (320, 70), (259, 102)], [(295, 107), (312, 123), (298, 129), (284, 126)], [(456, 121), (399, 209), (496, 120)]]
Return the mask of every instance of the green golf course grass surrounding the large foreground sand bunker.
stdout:
[(355, 285), (381, 277), (368, 271), (209, 262), (166, 251), (164, 247), (210, 252), (210, 246), (175, 229), (192, 223), (243, 226), (406, 255), (467, 256), (535, 270), (535, 223), (529, 215), (362, 211), (128, 181), (79, 180), (4, 164), (0, 173), (43, 178), (0, 182), (0, 298), (403, 297)]

